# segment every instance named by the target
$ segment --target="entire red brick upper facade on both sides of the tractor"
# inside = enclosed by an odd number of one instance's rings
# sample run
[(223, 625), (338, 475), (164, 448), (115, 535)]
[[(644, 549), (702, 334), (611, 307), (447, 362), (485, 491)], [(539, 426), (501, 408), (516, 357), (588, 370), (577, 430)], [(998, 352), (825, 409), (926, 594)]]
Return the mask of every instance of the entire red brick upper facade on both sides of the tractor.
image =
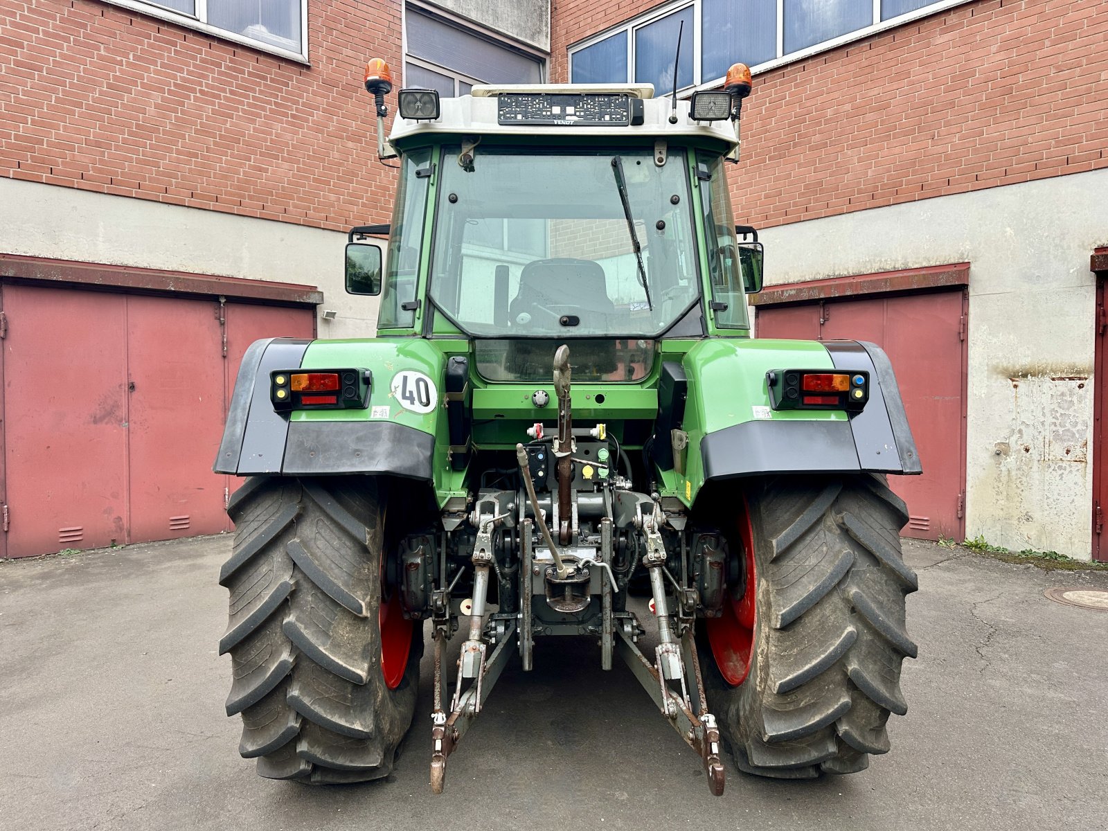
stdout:
[[(567, 48), (657, 6), (555, 0)], [(1098, 13), (1099, 12), (1099, 13)], [(399, 0), (312, 0), (311, 66), (96, 0), (7, 0), (0, 175), (343, 229), (388, 219), (360, 70)], [(760, 74), (736, 214), (782, 225), (1108, 166), (1102, 0), (981, 0)]]

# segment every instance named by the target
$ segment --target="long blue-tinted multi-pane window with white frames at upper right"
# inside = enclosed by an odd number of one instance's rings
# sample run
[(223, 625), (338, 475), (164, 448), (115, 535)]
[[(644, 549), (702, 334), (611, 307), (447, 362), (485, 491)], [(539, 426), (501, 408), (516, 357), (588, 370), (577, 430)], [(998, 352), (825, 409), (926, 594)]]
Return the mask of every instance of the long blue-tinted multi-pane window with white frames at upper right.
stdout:
[(755, 72), (808, 58), (968, 0), (681, 0), (570, 47), (571, 83), (718, 86), (736, 61)]

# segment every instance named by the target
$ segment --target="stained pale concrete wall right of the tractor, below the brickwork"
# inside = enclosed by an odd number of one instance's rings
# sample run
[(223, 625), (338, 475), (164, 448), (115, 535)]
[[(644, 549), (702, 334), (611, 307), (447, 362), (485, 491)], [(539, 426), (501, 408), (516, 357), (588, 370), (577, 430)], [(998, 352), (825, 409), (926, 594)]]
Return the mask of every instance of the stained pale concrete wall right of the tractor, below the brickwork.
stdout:
[(1108, 171), (769, 228), (769, 284), (968, 261), (966, 534), (1088, 560)]

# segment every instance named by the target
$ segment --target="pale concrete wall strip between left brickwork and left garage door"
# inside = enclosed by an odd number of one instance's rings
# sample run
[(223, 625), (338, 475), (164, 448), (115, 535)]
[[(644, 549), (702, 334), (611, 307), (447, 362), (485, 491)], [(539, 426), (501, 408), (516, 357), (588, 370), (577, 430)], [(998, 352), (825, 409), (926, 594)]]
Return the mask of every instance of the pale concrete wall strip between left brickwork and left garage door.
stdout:
[[(324, 293), (320, 338), (377, 328), (377, 298), (343, 288), (346, 242), (334, 230), (0, 178), (0, 252), (310, 284)], [(338, 317), (321, 319), (324, 309)]]

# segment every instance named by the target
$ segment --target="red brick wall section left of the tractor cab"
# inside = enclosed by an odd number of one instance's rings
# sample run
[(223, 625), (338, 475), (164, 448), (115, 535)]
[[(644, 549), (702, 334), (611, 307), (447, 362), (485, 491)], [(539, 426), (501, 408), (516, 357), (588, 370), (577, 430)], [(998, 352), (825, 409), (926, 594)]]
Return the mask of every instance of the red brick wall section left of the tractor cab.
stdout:
[[(4, 0), (0, 175), (345, 229), (387, 222), (369, 57), (400, 2), (311, 0), (311, 66), (94, 0)], [(394, 103), (394, 99), (390, 101)]]

